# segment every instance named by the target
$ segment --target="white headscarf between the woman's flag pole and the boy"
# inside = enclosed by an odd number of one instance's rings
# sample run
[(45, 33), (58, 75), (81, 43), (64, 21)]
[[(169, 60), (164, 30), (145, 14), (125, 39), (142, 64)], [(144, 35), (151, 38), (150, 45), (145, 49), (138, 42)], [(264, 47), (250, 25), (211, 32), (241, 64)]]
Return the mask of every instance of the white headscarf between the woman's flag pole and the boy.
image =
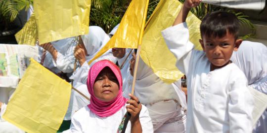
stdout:
[(135, 82), (135, 96), (144, 104), (163, 100), (178, 100), (186, 108), (185, 94), (176, 92), (176, 84), (162, 81), (140, 58)]

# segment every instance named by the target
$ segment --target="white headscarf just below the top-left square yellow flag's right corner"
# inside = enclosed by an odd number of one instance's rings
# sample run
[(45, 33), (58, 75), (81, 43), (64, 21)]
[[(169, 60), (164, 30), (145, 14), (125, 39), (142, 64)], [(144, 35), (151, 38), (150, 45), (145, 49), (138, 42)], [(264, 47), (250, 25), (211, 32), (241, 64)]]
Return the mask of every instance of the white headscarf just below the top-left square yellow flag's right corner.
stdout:
[(92, 59), (99, 50), (109, 41), (109, 36), (98, 26), (90, 26), (89, 33), (82, 35), (87, 54), (87, 60)]

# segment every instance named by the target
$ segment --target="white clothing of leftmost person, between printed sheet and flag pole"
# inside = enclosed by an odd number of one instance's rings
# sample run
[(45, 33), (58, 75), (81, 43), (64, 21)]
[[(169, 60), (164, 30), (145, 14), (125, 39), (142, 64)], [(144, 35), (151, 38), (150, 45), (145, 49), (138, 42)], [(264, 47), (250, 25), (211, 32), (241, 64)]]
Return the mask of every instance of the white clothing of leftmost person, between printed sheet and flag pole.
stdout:
[[(43, 66), (49, 68), (55, 73), (58, 73), (60, 71), (63, 71), (65, 73), (72, 72), (75, 63), (74, 49), (77, 44), (76, 38), (70, 37), (66, 39), (61, 39), (53, 41), (51, 42), (51, 44), (57, 50), (56, 62), (53, 60), (52, 55), (48, 51), (46, 51), (45, 61)], [(40, 55), (38, 58), (38, 62), (41, 62), (44, 49), (40, 46), (38, 47)]]

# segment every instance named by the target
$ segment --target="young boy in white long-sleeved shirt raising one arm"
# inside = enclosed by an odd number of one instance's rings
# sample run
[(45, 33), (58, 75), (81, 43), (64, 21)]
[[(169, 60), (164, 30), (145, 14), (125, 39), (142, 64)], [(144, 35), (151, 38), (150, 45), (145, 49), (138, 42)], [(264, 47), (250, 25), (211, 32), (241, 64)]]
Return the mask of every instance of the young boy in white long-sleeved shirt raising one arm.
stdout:
[(200, 1), (185, 0), (173, 27), (162, 31), (187, 77), (186, 133), (251, 133), (253, 98), (244, 73), (230, 61), (242, 42), (238, 19), (222, 11), (206, 15), (200, 26), (203, 51), (194, 50), (185, 19)]

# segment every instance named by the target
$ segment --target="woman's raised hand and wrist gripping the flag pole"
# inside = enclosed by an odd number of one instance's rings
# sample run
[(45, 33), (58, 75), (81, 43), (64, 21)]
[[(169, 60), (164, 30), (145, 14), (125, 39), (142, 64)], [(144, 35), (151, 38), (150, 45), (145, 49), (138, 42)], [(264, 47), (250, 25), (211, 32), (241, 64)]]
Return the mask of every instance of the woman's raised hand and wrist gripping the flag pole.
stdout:
[(138, 123), (139, 121), (139, 114), (142, 109), (142, 105), (139, 102), (138, 98), (136, 98), (134, 95), (129, 94), (131, 97), (131, 100), (128, 100), (127, 103), (130, 105), (126, 106), (127, 111), (131, 114), (130, 121), (132, 124)]

